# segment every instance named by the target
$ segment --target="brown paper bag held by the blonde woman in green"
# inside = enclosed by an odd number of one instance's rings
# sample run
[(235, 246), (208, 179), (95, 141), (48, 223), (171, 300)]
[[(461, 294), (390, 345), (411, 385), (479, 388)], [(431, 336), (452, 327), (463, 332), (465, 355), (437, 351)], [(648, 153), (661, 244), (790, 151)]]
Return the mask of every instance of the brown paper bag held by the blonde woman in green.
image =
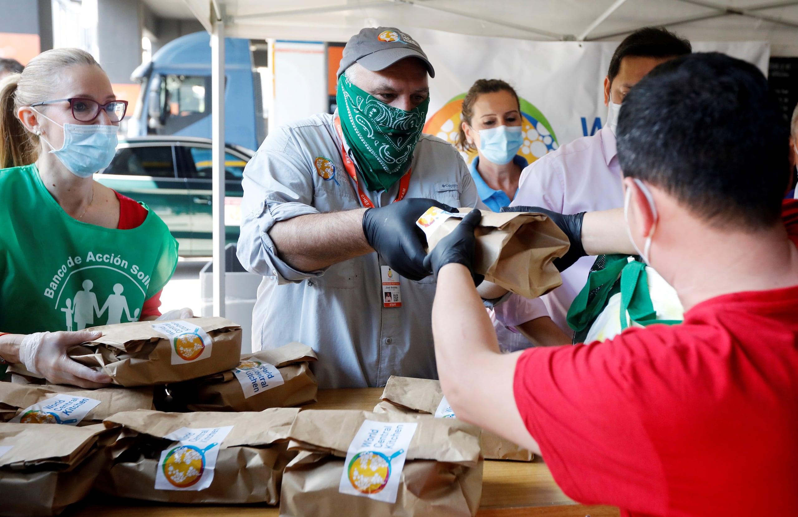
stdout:
[[(174, 322), (187, 322), (201, 331), (170, 338), (152, 328), (153, 325)], [(126, 387), (189, 381), (239, 364), (240, 326), (225, 318), (189, 318), (174, 322), (132, 322), (92, 327), (86, 330), (99, 330), (102, 337), (73, 347), (69, 356), (97, 371), (104, 371), (114, 384)], [(203, 332), (207, 337), (199, 335)], [(32, 376), (22, 365), (11, 365), (9, 371)]]

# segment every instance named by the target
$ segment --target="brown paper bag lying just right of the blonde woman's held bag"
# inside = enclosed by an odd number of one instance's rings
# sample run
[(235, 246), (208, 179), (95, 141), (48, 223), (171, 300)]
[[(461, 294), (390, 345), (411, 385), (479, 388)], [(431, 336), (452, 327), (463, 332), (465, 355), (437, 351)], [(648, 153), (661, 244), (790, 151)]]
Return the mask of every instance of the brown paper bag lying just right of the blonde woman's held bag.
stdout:
[[(189, 411), (263, 411), (316, 401), (318, 385), (308, 361), (316, 353), (302, 343), (243, 353), (238, 368), (169, 385), (172, 397)], [(276, 367), (283, 384), (269, 379)], [(273, 388), (269, 385), (277, 384)], [(265, 386), (265, 389), (264, 389)]]

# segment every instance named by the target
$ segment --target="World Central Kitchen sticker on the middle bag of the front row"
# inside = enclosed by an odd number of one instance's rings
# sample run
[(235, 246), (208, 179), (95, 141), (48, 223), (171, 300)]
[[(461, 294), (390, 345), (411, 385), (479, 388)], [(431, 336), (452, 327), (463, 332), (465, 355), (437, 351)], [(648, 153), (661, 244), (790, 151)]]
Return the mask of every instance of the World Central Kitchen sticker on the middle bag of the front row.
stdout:
[(180, 428), (164, 436), (176, 443), (160, 453), (156, 489), (199, 491), (210, 487), (219, 448), (232, 428)]

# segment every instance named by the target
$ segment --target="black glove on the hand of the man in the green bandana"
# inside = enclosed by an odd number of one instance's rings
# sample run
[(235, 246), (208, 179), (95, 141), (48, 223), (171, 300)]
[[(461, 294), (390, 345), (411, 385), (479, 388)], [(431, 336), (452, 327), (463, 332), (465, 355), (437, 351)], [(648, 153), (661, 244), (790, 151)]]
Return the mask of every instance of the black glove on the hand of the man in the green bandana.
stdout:
[(363, 214), (363, 233), (369, 245), (393, 270), (410, 280), (421, 280), (432, 274), (424, 266), (427, 238), (416, 224), (429, 207), (457, 211), (435, 199), (410, 198), (385, 207), (369, 208)]

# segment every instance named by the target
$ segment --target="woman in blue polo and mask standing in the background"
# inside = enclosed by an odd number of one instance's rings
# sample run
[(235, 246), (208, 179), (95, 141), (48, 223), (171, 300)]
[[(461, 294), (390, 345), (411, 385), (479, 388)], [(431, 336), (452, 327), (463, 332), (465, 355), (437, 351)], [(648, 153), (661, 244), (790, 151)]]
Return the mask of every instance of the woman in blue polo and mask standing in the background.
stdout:
[(468, 168), (482, 201), (500, 211), (516, 196), (527, 160), (519, 156), (523, 118), (516, 90), (500, 79), (477, 80), (463, 99), (458, 146), (476, 149)]

